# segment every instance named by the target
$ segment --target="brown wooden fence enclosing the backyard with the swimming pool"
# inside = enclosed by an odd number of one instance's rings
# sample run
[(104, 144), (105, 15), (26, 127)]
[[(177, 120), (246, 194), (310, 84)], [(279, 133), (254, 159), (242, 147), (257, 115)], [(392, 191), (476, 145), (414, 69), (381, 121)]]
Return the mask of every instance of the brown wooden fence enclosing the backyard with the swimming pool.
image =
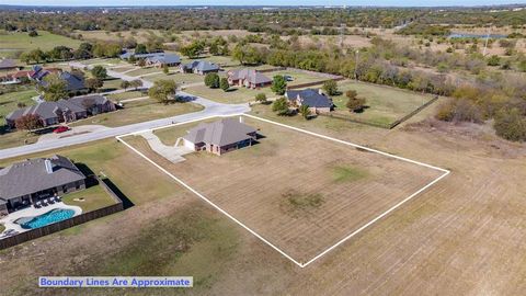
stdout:
[(98, 208), (88, 213), (82, 213), (79, 216), (75, 216), (69, 219), (54, 223), (44, 227), (31, 229), (28, 231), (14, 235), (12, 237), (0, 239), (0, 250), (123, 210), (123, 201), (118, 198), (118, 196), (112, 191), (112, 189), (106, 185), (106, 183), (104, 183), (99, 178), (96, 179), (99, 181), (99, 184), (104, 189), (104, 191), (107, 192), (107, 194), (110, 194), (110, 196), (116, 202), (115, 204)]

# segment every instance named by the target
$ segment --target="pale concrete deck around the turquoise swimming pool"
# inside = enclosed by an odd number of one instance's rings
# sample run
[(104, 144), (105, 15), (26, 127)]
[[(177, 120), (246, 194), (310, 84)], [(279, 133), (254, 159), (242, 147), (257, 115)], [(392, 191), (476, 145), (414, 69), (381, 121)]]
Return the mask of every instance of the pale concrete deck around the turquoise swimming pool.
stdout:
[(75, 210), (73, 217), (82, 214), (82, 208), (80, 208), (79, 206), (67, 205), (62, 202), (55, 203), (53, 205), (44, 206), (44, 207), (41, 207), (41, 208), (35, 208), (32, 205), (31, 207), (13, 212), (13, 213), (9, 214), (8, 216), (0, 219), (0, 224), (3, 224), (3, 226), (5, 226), (5, 230), (3, 230), (2, 234), (0, 234), (0, 239), (4, 238), (5, 236), (3, 234), (5, 234), (5, 231), (8, 231), (10, 229), (16, 231), (16, 234), (21, 234), (21, 232), (25, 232), (27, 230), (31, 230), (31, 229), (22, 228), (20, 225), (14, 223), (15, 220), (18, 220), (20, 218), (23, 218), (23, 217), (39, 216), (39, 215), (45, 214), (45, 213), (47, 213), (52, 209), (55, 209), (55, 208), (72, 209), (72, 210)]

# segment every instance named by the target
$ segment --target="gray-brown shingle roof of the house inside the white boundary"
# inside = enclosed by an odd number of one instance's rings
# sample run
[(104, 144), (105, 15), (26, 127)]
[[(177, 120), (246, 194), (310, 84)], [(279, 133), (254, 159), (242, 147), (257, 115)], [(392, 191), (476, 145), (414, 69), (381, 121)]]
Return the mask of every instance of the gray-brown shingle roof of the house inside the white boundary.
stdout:
[(183, 138), (194, 143), (206, 143), (216, 146), (226, 146), (251, 138), (249, 134), (256, 129), (238, 122), (235, 118), (225, 118), (213, 123), (201, 123), (188, 130)]

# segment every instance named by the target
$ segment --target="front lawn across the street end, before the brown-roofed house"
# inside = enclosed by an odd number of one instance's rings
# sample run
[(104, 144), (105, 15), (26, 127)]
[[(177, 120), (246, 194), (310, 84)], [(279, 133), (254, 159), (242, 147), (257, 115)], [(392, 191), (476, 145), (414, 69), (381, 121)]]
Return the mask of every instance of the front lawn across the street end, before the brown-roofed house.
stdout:
[(206, 86), (192, 87), (185, 89), (186, 92), (203, 96), (220, 103), (237, 104), (255, 101), (258, 93), (266, 94), (266, 98), (274, 98), (276, 94), (272, 92), (271, 88), (261, 88), (256, 90), (247, 89), (243, 87), (232, 87), (229, 91), (225, 92), (221, 89), (210, 89)]

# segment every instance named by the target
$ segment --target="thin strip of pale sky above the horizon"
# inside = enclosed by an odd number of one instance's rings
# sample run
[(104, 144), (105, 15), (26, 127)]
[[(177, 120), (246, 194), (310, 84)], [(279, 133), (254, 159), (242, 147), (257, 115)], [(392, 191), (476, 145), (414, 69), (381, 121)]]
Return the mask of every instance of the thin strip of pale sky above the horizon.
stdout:
[(244, 2), (239, 0), (0, 0), (0, 4), (19, 5), (392, 5), (392, 7), (437, 7), (437, 5), (491, 5), (526, 3), (525, 0), (260, 0)]

